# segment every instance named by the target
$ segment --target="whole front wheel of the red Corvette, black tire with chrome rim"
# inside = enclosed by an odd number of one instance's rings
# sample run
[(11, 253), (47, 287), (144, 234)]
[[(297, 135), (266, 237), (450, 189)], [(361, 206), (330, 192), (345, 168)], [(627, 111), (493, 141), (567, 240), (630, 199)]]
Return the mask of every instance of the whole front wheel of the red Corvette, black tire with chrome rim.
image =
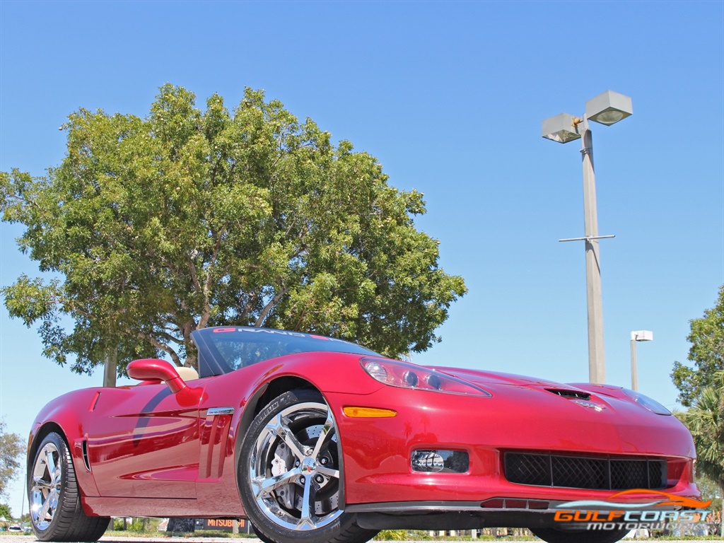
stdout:
[(286, 392), (246, 432), (237, 467), (241, 501), (264, 543), (363, 543), (339, 507), (341, 458), (332, 411), (316, 390)]

